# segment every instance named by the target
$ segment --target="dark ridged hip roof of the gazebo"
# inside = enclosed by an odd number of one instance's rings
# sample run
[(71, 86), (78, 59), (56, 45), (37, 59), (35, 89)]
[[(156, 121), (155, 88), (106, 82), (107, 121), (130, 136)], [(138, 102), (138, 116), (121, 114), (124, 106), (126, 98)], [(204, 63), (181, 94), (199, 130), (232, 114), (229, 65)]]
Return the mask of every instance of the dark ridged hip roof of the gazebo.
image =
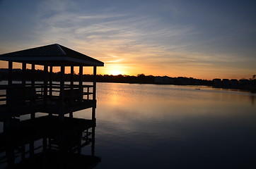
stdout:
[(78, 51), (74, 51), (60, 44), (39, 46), (22, 51), (14, 51), (7, 54), (0, 54), (1, 61), (13, 61), (19, 63), (31, 63), (35, 65), (59, 66), (64, 63), (66, 66), (103, 66), (104, 63), (91, 58)]

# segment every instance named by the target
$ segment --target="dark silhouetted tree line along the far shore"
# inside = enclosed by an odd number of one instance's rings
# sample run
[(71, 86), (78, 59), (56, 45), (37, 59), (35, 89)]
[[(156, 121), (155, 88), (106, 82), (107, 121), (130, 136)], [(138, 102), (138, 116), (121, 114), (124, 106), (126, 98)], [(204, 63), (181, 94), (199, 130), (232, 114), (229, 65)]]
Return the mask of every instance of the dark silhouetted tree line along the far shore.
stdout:
[[(43, 70), (35, 70), (33, 74), (32, 70), (27, 69), (25, 73), (21, 69), (14, 69), (12, 74), (13, 80), (32, 80), (43, 81), (45, 77), (49, 78), (50, 73), (45, 73)], [(60, 81), (61, 73), (52, 73), (52, 80)], [(77, 82), (80, 75), (74, 74), (74, 82)], [(8, 69), (0, 69), (0, 80), (8, 80)], [(64, 74), (64, 80), (70, 81), (71, 74)], [(93, 75), (82, 75), (84, 82), (92, 82), (94, 80)], [(255, 91), (256, 88), (256, 75), (252, 75), (250, 80), (227, 80), (227, 79), (214, 79), (214, 80), (202, 80), (193, 77), (168, 77), (168, 76), (153, 76), (138, 74), (134, 75), (96, 75), (96, 82), (118, 82), (118, 83), (138, 83), (138, 84), (175, 84), (175, 85), (204, 85), (222, 88), (233, 89), (248, 89)]]

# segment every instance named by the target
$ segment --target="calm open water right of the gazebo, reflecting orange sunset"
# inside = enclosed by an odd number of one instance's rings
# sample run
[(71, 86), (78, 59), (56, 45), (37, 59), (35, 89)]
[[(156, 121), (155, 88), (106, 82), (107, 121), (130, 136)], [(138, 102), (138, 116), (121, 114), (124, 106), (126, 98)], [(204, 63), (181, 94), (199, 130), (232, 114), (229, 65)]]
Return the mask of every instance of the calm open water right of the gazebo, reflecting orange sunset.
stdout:
[(255, 94), (97, 85), (95, 155), (102, 161), (95, 168), (256, 168)]

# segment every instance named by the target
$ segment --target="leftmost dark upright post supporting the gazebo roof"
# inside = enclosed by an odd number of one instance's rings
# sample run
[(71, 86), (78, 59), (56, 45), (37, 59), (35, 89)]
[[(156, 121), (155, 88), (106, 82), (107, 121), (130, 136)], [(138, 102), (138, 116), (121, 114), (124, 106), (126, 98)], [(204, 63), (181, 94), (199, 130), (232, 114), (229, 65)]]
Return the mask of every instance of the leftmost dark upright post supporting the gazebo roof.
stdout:
[(12, 99), (12, 91), (13, 91), (13, 62), (8, 61), (8, 89), (6, 91), (6, 104), (9, 108), (12, 107), (11, 99)]

